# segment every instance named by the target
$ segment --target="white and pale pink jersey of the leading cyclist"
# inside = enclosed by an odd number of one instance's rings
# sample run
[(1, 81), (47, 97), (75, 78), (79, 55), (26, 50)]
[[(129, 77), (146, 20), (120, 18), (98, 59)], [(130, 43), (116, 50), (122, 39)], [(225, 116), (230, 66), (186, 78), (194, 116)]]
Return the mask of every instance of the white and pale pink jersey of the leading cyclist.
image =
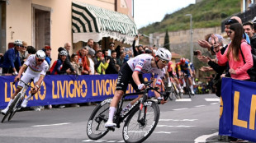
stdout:
[(152, 67), (152, 58), (153, 56), (143, 53), (135, 58), (130, 58), (127, 63), (132, 71), (139, 71), (140, 73), (154, 73), (158, 75), (156, 84), (161, 85), (162, 78), (164, 78), (165, 74), (165, 68), (159, 69), (158, 67)]

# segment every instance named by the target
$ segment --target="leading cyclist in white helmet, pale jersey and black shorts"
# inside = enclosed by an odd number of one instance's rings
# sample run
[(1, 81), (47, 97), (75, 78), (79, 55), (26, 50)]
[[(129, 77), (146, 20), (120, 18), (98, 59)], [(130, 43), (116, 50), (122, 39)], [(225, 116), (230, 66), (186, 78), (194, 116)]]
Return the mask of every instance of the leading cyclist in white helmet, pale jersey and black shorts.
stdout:
[[(147, 53), (142, 53), (135, 58), (130, 58), (122, 67), (118, 73), (116, 82), (116, 91), (113, 99), (111, 100), (109, 108), (109, 118), (105, 124), (105, 127), (116, 127), (116, 123), (113, 122), (114, 113), (116, 112), (116, 105), (121, 100), (121, 96), (126, 93), (128, 82), (136, 92), (145, 90), (143, 73), (157, 74), (156, 84), (159, 89), (161, 85), (161, 78), (164, 77), (165, 69), (168, 62), (172, 59), (172, 54), (166, 48), (159, 48), (155, 54), (155, 58)], [(131, 78), (130, 78), (131, 77)], [(137, 99), (130, 102), (130, 106), (140, 99), (141, 95)], [(157, 99), (162, 99), (159, 93), (155, 93)], [(164, 100), (163, 100), (164, 101)], [(162, 102), (164, 104), (164, 102)]]

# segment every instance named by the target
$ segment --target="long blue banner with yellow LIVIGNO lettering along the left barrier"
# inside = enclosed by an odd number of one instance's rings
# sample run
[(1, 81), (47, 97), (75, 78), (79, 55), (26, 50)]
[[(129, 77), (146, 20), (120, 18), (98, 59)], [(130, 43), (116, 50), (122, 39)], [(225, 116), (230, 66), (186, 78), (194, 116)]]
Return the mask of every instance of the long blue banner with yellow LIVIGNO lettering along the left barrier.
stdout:
[[(0, 76), (0, 108), (5, 108), (10, 101), (11, 95), (17, 88), (17, 83), (12, 84), (15, 76)], [(150, 79), (145, 74), (145, 81)], [(40, 90), (28, 102), (27, 106), (39, 106), (47, 104), (78, 104), (102, 101), (111, 98), (116, 90), (117, 74), (113, 75), (47, 75), (45, 76)], [(34, 83), (31, 83), (34, 86)], [(26, 90), (29, 95), (30, 88)], [(126, 93), (134, 93), (129, 84)], [(153, 96), (149, 92), (149, 96)], [(127, 96), (135, 98), (137, 95)]]

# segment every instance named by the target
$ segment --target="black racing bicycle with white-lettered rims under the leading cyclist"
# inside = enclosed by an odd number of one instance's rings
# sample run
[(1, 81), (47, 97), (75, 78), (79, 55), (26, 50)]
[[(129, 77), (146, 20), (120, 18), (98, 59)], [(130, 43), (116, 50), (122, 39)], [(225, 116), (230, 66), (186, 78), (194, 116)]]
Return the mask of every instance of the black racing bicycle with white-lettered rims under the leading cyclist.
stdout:
[[(164, 100), (168, 99), (167, 95), (160, 93), (158, 87), (152, 87), (153, 81), (145, 82), (145, 90), (140, 93), (130, 93), (122, 96), (121, 101), (117, 105), (113, 122), (116, 127), (120, 128), (121, 122), (125, 122), (123, 126), (122, 136), (126, 143), (139, 143), (145, 141), (159, 122), (160, 110), (159, 100), (148, 99), (149, 90), (155, 90)], [(133, 104), (125, 113), (121, 113), (122, 105), (126, 96), (143, 95), (135, 104)], [(108, 131), (115, 131), (114, 127), (104, 127), (108, 119), (109, 106), (112, 99), (105, 99), (98, 104), (93, 110), (87, 125), (87, 134), (91, 140), (98, 140), (105, 136)]]

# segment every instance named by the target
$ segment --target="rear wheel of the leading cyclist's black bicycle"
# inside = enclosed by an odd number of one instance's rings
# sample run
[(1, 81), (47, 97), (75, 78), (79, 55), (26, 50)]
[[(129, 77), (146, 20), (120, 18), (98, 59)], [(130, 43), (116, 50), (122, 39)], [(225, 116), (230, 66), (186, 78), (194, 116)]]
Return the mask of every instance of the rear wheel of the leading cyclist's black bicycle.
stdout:
[(92, 140), (105, 136), (108, 130), (104, 127), (108, 119), (109, 105), (112, 99), (105, 99), (93, 110), (87, 124), (87, 135)]

